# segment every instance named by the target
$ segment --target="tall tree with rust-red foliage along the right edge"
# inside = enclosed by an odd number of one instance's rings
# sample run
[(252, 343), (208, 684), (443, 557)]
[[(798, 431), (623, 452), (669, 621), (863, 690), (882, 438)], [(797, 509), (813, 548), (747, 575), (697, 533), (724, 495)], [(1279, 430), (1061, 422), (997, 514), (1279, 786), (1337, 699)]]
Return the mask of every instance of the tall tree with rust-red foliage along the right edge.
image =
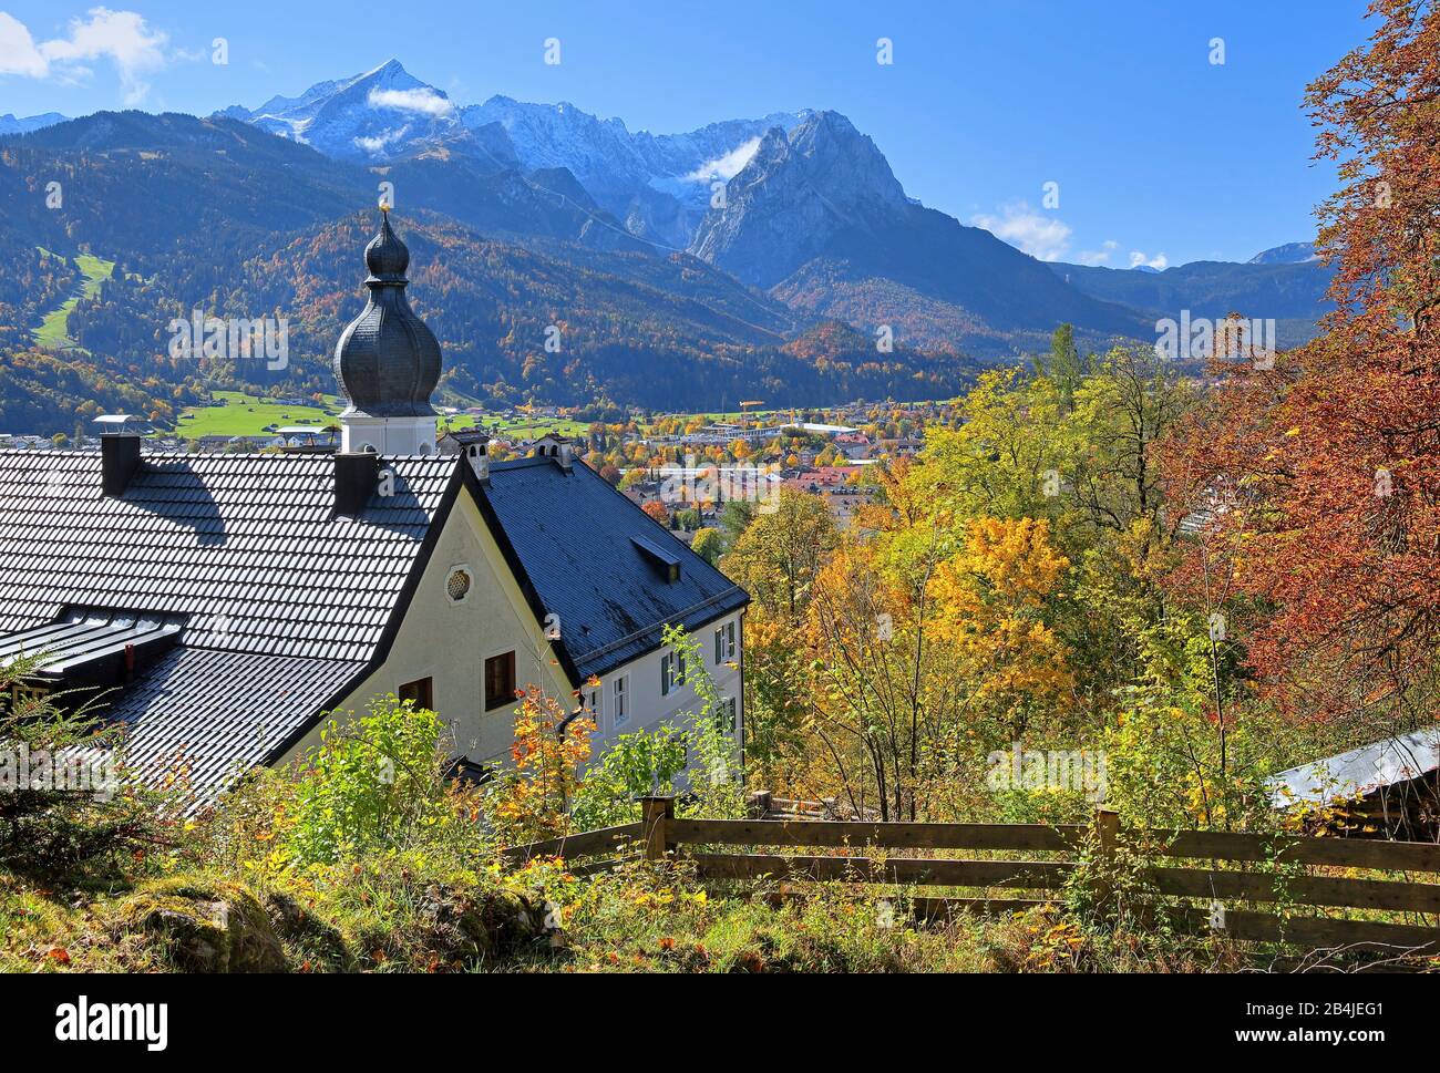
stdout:
[(1220, 514), (1181, 579), (1244, 608), (1272, 696), (1418, 722), (1440, 644), (1440, 13), (1368, 17), (1306, 96), (1341, 180), (1318, 209), (1338, 308), (1273, 367), (1217, 369), (1164, 465), (1182, 510)]

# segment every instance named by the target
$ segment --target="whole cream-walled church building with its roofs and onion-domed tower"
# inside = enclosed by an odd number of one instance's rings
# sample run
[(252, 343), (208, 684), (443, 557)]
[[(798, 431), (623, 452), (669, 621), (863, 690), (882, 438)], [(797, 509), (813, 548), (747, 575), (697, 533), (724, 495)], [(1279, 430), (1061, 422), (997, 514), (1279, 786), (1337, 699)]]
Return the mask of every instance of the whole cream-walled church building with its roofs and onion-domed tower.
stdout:
[(135, 775), (209, 801), (384, 694), (433, 707), (471, 769), (505, 756), (531, 684), (602, 739), (674, 720), (697, 706), (674, 625), (740, 737), (747, 595), (567, 442), (438, 454), (441, 350), (389, 219), (366, 264), (337, 452), (0, 451), (0, 663), (39, 657), (16, 688), (91, 691)]

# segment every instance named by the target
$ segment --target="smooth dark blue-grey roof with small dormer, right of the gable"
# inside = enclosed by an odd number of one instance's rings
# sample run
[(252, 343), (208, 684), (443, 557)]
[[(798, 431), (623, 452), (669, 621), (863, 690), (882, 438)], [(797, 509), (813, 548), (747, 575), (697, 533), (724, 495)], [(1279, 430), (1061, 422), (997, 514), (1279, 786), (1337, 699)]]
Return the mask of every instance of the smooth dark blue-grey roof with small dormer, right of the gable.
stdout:
[[(536, 614), (560, 616), (562, 663), (572, 680), (606, 674), (657, 648), (665, 625), (697, 629), (750, 598), (583, 462), (552, 458), (490, 467), (482, 511)], [(670, 582), (645, 543), (680, 562)]]

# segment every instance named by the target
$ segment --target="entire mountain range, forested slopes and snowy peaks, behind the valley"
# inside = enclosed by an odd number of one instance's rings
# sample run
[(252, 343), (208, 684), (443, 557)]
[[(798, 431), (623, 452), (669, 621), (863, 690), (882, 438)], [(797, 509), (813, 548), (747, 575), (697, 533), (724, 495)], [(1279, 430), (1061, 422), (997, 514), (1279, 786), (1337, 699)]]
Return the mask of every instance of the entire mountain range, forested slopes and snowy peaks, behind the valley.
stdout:
[[(563, 102), (456, 105), (396, 60), (255, 109), (96, 112), (0, 135), (0, 277), (12, 274), (0, 356), (26, 349), (46, 304), (73, 287), (71, 259), (94, 252), (117, 272), (69, 317), (92, 354), (82, 379), (99, 398), (107, 376), (132, 370), (153, 392), (143, 409), (160, 412), (180, 379), (190, 392), (243, 373), (135, 372), (157, 367), (164, 323), (196, 307), (295, 315), (307, 359), (294, 386), (321, 385), (311, 359), (356, 287), (344, 259), (354, 251), (338, 243), (382, 181), (444, 262), (426, 279), (441, 326), (459, 326), (446, 340), (465, 380), (455, 390), (497, 402), (575, 402), (582, 390), (700, 409), (732, 396), (939, 398), (973, 359), (1044, 350), (1060, 323), (1100, 350), (1152, 338), (1176, 302), (1195, 315), (1210, 305), (1266, 315), (1254, 307), (1283, 300), (1282, 337), (1302, 340), (1325, 274), (1308, 261), (1148, 274), (1047, 265), (910, 197), (878, 144), (840, 112), (655, 135)], [(62, 210), (36, 196), (56, 174), (68, 176)], [(59, 253), (63, 271), (36, 251)], [(256, 275), (291, 271), (281, 251), (310, 258), (304, 287)], [(266, 307), (246, 305), (256, 301)], [(559, 324), (573, 330), (564, 357), (536, 351), (539, 330)], [(840, 343), (851, 350), (822, 351)], [(665, 372), (635, 376), (635, 363)], [(56, 398), (17, 412), (35, 419)]]

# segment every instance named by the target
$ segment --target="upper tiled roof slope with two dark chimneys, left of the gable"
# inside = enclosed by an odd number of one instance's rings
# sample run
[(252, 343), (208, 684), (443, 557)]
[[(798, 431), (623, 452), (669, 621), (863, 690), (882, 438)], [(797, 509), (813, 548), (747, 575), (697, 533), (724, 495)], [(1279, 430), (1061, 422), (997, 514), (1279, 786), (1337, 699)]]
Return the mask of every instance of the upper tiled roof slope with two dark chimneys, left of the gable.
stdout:
[(150, 455), (105, 498), (98, 452), (0, 451), (0, 634), (81, 605), (183, 615), (187, 647), (366, 663), (459, 459), (384, 465), (395, 494), (351, 518), (327, 455)]

